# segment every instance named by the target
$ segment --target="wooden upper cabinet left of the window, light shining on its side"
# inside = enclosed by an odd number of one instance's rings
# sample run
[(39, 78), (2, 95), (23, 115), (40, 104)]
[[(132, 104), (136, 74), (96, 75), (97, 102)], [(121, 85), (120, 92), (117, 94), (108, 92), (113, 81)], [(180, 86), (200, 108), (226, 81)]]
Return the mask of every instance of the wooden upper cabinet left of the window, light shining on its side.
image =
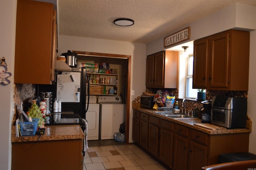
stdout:
[(178, 52), (161, 51), (147, 56), (147, 88), (178, 88)]

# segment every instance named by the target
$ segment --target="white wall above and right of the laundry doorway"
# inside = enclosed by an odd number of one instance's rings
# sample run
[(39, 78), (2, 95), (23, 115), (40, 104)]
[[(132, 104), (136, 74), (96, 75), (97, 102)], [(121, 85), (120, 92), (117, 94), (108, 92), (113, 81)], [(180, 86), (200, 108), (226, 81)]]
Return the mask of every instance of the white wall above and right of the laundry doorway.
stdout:
[(58, 55), (67, 52), (68, 50), (131, 56), (130, 89), (134, 90), (134, 96), (130, 96), (129, 142), (133, 142), (132, 101), (137, 96), (140, 96), (146, 89), (146, 44), (59, 35)]

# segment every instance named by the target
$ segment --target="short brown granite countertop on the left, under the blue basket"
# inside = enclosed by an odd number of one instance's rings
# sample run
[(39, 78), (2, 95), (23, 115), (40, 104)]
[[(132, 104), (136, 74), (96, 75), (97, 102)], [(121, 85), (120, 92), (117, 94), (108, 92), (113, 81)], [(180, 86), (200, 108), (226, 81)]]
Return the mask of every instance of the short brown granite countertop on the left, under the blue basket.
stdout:
[(46, 126), (45, 132), (41, 135), (16, 137), (15, 126), (12, 126), (12, 142), (33, 142), (49, 140), (72, 140), (84, 139), (84, 132), (79, 125), (58, 125)]

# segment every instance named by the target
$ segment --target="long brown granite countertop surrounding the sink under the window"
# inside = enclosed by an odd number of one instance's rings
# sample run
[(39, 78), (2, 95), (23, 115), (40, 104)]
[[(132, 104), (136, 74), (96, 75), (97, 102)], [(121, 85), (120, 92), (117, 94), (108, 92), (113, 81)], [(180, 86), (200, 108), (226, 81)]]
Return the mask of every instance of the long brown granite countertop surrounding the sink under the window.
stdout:
[(199, 118), (168, 118), (166, 116), (154, 113), (153, 111), (155, 110), (151, 110), (151, 109), (147, 109), (147, 108), (140, 108), (140, 107), (134, 107), (134, 110), (138, 110), (140, 112), (144, 112), (144, 113), (148, 113), (150, 115), (159, 117), (159, 118), (163, 118), (165, 120), (169, 120), (171, 122), (177, 123), (177, 124), (181, 124), (183, 126), (187, 126), (188, 128), (192, 128), (207, 134), (232, 134), (232, 133), (249, 133), (252, 132), (252, 121), (250, 120), (250, 117), (247, 116), (247, 121), (246, 121), (246, 128), (240, 128), (240, 129), (229, 129), (229, 128), (223, 128), (220, 126), (215, 126), (212, 124), (202, 124), (205, 126), (209, 126), (212, 128), (203, 128), (200, 126), (197, 126), (198, 124), (201, 123), (201, 119)]

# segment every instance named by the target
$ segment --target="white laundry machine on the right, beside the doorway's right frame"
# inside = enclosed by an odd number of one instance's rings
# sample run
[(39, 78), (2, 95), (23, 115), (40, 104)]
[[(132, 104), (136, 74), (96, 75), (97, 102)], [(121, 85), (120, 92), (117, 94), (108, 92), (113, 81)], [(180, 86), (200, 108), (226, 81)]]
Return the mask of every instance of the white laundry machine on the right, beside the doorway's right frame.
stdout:
[(126, 105), (120, 96), (99, 96), (100, 104), (100, 139), (114, 139), (114, 132), (119, 132), (120, 124), (125, 122)]

